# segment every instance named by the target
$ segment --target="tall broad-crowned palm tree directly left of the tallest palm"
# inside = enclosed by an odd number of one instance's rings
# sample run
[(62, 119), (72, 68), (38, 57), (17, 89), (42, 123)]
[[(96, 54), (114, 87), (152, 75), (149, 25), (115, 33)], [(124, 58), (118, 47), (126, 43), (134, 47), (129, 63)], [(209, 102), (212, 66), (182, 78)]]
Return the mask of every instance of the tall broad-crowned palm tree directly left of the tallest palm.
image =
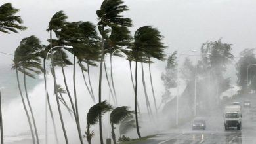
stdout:
[(83, 60), (88, 58), (89, 52), (99, 48), (100, 37), (98, 37), (96, 29), (91, 22), (67, 22), (62, 27), (59, 33), (59, 39), (62, 44), (72, 45), (73, 48), (69, 50), (73, 56), (73, 84), (74, 84), (74, 98), (75, 98), (75, 114), (77, 121), (77, 129), (79, 130), (79, 138), (81, 143), (83, 139), (81, 137), (77, 94), (75, 87), (75, 63), (76, 58)]

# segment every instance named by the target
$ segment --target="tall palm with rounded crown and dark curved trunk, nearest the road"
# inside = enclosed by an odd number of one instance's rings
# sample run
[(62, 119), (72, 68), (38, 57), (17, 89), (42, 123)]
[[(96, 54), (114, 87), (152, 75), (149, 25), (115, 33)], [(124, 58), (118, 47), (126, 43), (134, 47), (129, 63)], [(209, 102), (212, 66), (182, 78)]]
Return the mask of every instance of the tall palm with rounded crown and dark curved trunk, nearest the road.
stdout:
[(135, 122), (139, 137), (141, 136), (137, 115), (137, 62), (143, 62), (143, 59), (145, 59), (141, 53), (150, 54), (150, 56), (162, 60), (164, 55), (163, 50), (166, 46), (163, 46), (161, 39), (163, 39), (163, 36), (160, 35), (158, 29), (152, 26), (143, 26), (135, 31), (133, 45), (129, 46), (133, 50), (132, 56), (135, 59)]

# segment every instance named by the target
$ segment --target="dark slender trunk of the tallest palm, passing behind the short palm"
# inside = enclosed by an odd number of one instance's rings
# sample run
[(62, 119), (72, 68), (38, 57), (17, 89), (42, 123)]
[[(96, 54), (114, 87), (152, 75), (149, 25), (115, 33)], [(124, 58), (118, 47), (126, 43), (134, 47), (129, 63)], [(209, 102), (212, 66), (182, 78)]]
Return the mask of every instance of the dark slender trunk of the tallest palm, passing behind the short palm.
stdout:
[[(104, 26), (102, 26), (102, 31), (104, 31)], [(101, 82), (102, 82), (102, 63), (104, 60), (104, 37), (102, 36), (102, 45), (101, 45), (101, 58), (100, 58), (100, 79), (98, 82), (98, 103), (101, 102)], [(100, 129), (100, 144), (104, 144), (103, 135), (102, 135), (102, 118), (101, 113), (98, 117), (98, 125)]]

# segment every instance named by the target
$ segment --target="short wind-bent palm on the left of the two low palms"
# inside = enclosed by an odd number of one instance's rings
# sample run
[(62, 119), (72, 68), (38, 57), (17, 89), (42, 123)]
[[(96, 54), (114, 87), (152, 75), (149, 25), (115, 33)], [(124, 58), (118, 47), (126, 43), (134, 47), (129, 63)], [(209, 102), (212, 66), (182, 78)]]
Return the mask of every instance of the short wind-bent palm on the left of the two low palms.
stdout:
[(94, 135), (93, 131), (90, 130), (90, 127), (98, 122), (100, 115), (102, 116), (104, 113), (111, 111), (112, 109), (112, 105), (108, 104), (106, 101), (97, 103), (89, 109), (86, 117), (87, 127), (85, 131), (85, 137), (89, 144), (91, 144), (91, 139)]

